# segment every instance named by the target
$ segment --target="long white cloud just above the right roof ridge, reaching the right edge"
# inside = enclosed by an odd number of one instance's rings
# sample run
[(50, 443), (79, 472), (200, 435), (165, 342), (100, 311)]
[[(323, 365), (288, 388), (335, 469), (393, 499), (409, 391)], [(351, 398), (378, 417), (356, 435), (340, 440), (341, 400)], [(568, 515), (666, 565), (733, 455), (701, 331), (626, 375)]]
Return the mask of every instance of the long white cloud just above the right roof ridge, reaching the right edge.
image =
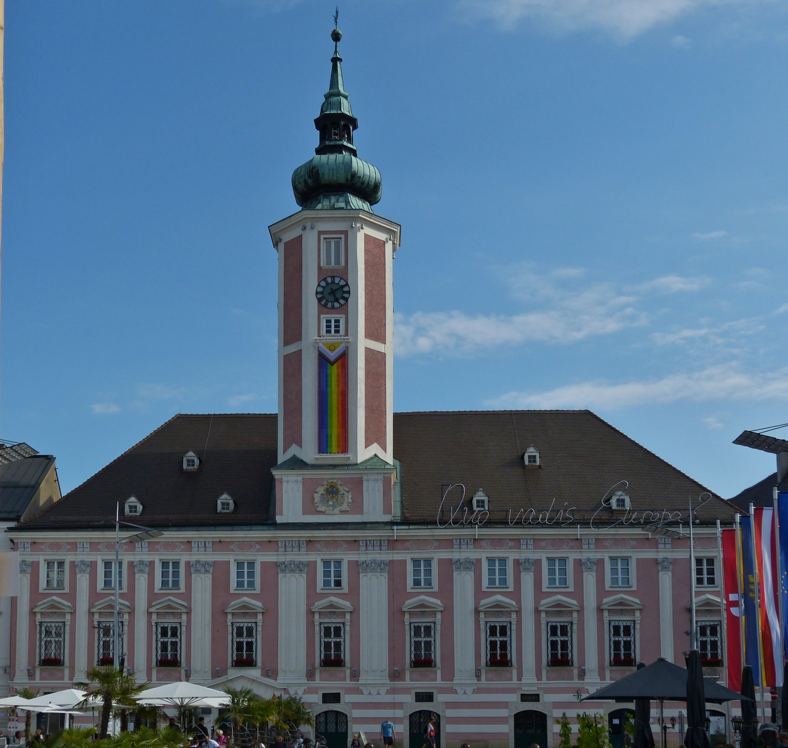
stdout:
[(544, 393), (512, 392), (491, 400), (494, 407), (619, 407), (676, 400), (788, 400), (788, 369), (767, 374), (746, 372), (735, 363), (661, 379), (608, 384), (586, 381)]

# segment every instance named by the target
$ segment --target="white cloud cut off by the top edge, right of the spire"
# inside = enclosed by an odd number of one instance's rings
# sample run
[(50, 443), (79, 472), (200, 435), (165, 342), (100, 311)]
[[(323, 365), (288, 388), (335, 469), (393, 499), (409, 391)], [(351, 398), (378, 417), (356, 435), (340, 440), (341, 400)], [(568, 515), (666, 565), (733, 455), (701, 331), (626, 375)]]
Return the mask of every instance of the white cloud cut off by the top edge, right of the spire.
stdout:
[[(722, 0), (724, 2), (724, 0)], [(539, 18), (574, 31), (602, 28), (631, 39), (659, 24), (721, 0), (461, 0), (470, 16), (489, 18), (511, 28), (523, 18)], [(733, 0), (729, 0), (733, 2)]]

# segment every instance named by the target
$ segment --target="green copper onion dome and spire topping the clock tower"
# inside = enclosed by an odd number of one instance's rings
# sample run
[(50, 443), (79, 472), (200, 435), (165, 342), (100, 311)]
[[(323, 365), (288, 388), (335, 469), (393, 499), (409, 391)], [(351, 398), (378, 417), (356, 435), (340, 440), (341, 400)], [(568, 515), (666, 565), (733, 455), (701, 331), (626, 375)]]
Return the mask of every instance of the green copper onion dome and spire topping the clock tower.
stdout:
[(293, 195), (305, 210), (352, 208), (371, 213), (370, 206), (381, 200), (381, 173), (356, 155), (353, 132), (359, 121), (353, 116), (350, 97), (344, 90), (339, 53), (342, 32), (335, 28), (331, 39), (331, 82), (314, 121), (320, 140), (314, 158), (293, 172)]

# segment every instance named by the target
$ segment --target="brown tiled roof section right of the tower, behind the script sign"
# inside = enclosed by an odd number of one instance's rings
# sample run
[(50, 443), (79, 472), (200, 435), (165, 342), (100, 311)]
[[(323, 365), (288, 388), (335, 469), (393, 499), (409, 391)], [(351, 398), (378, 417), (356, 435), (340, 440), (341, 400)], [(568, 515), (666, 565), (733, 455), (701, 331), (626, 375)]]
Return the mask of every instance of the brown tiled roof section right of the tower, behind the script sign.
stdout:
[[(525, 469), (522, 455), (533, 445), (541, 467)], [(519, 509), (576, 507), (587, 521), (602, 498), (621, 481), (632, 506), (689, 511), (689, 497), (708, 489), (661, 460), (591, 411), (449, 411), (396, 413), (394, 453), (402, 462), (403, 514), (411, 521), (437, 518), (442, 490), (461, 483), (470, 499), (489, 497), (490, 519), (506, 521)], [(452, 498), (452, 496), (454, 498)], [(459, 493), (446, 504), (457, 504)], [(600, 523), (610, 517), (608, 509)], [(719, 496), (700, 509), (701, 519), (732, 521), (734, 508)], [(617, 516), (621, 513), (617, 512)], [(448, 519), (448, 514), (444, 515)], [(685, 528), (686, 529), (686, 528)]]

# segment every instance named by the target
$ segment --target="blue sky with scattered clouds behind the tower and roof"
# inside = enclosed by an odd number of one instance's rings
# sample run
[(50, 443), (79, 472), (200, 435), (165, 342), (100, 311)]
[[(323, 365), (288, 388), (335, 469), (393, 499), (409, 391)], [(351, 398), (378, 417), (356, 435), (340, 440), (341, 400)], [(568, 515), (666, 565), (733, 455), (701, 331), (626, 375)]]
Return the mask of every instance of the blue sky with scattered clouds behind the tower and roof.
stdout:
[[(276, 254), (333, 4), (6, 4), (0, 436), (65, 490), (276, 409)], [(788, 421), (788, 23), (768, 0), (346, 0), (397, 410), (589, 407), (731, 496)], [(593, 450), (593, 445), (589, 445)]]

